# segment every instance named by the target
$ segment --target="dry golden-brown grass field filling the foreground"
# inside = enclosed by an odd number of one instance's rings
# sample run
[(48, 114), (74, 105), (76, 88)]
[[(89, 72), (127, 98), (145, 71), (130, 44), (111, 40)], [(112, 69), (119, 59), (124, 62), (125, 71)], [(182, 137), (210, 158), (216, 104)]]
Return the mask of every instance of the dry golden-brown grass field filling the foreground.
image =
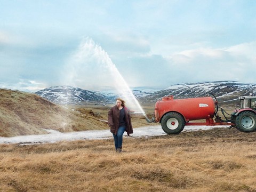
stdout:
[(111, 139), (0, 145), (0, 191), (256, 191), (255, 136), (125, 137), (121, 154)]

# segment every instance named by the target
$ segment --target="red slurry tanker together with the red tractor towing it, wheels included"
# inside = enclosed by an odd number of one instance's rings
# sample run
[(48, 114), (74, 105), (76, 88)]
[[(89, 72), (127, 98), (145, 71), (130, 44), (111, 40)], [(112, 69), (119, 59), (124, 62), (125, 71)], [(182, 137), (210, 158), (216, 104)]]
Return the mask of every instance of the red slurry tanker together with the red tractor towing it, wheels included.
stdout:
[[(239, 99), (241, 108), (229, 115), (218, 107), (215, 97), (214, 99), (212, 97), (174, 99), (173, 95), (170, 95), (156, 102), (155, 118), (146, 119), (148, 122), (161, 123), (162, 129), (167, 134), (178, 134), (185, 125), (230, 125), (243, 132), (253, 132), (256, 130), (256, 97), (245, 96)], [(225, 120), (218, 115), (219, 109)], [(226, 117), (227, 115), (230, 117)], [(190, 122), (202, 119), (205, 121)]]

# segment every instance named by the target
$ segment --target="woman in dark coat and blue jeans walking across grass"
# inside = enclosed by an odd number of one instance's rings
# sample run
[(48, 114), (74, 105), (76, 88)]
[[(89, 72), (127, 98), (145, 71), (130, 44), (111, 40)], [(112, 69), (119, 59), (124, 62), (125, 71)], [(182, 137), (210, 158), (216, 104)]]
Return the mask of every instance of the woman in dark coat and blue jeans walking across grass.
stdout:
[(108, 125), (113, 133), (116, 152), (121, 153), (124, 132), (126, 131), (128, 136), (133, 133), (131, 116), (123, 99), (117, 98), (116, 105), (108, 111)]

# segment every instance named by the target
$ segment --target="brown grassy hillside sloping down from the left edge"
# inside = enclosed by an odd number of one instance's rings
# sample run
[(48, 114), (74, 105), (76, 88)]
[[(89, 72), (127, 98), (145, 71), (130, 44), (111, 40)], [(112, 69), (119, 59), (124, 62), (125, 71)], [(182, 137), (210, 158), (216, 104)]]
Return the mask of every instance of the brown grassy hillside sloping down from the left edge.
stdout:
[(0, 137), (106, 129), (90, 110), (71, 110), (37, 94), (0, 89)]

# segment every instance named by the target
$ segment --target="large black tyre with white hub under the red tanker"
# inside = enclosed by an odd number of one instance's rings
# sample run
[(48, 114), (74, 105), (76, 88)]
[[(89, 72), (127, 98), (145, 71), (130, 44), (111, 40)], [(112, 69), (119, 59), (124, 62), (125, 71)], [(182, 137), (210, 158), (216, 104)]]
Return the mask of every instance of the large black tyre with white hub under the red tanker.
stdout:
[(179, 134), (185, 123), (183, 116), (175, 112), (165, 114), (161, 120), (162, 129), (167, 134)]

